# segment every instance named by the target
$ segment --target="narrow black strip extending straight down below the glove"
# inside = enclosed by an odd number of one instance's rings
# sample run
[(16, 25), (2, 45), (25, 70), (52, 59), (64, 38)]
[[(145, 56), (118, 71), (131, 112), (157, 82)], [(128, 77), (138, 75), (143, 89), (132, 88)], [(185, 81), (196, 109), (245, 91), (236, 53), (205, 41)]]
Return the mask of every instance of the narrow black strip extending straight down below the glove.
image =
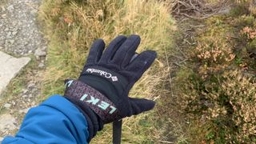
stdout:
[(121, 143), (122, 119), (113, 122), (113, 144)]

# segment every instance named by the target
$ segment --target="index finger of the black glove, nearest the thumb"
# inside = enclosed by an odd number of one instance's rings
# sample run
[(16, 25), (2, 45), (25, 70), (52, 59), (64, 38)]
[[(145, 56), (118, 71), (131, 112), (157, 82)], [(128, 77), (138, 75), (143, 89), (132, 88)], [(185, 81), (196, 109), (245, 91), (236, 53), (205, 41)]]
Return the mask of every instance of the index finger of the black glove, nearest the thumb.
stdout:
[(143, 74), (152, 65), (156, 57), (157, 53), (153, 50), (143, 51), (126, 67), (126, 70)]

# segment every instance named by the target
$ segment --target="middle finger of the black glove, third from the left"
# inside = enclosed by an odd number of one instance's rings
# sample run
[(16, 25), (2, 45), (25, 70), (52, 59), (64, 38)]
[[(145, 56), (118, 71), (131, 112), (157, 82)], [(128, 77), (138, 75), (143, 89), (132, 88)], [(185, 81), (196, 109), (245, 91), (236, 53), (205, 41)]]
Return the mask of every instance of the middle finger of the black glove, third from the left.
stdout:
[(141, 38), (138, 35), (131, 35), (126, 39), (126, 42), (123, 42), (122, 46), (118, 48), (118, 51), (114, 54), (114, 58), (111, 62), (118, 66), (126, 66), (135, 54), (135, 50), (137, 50), (140, 42)]

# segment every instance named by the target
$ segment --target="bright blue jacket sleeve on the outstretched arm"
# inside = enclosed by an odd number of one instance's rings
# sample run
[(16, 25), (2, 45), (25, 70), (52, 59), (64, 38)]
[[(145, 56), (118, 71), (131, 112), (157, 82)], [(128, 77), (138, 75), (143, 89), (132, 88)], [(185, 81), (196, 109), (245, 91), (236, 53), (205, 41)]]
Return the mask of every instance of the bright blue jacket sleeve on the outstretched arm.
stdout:
[(6, 137), (6, 143), (87, 143), (89, 132), (86, 118), (66, 98), (54, 95), (31, 108), (15, 137)]

